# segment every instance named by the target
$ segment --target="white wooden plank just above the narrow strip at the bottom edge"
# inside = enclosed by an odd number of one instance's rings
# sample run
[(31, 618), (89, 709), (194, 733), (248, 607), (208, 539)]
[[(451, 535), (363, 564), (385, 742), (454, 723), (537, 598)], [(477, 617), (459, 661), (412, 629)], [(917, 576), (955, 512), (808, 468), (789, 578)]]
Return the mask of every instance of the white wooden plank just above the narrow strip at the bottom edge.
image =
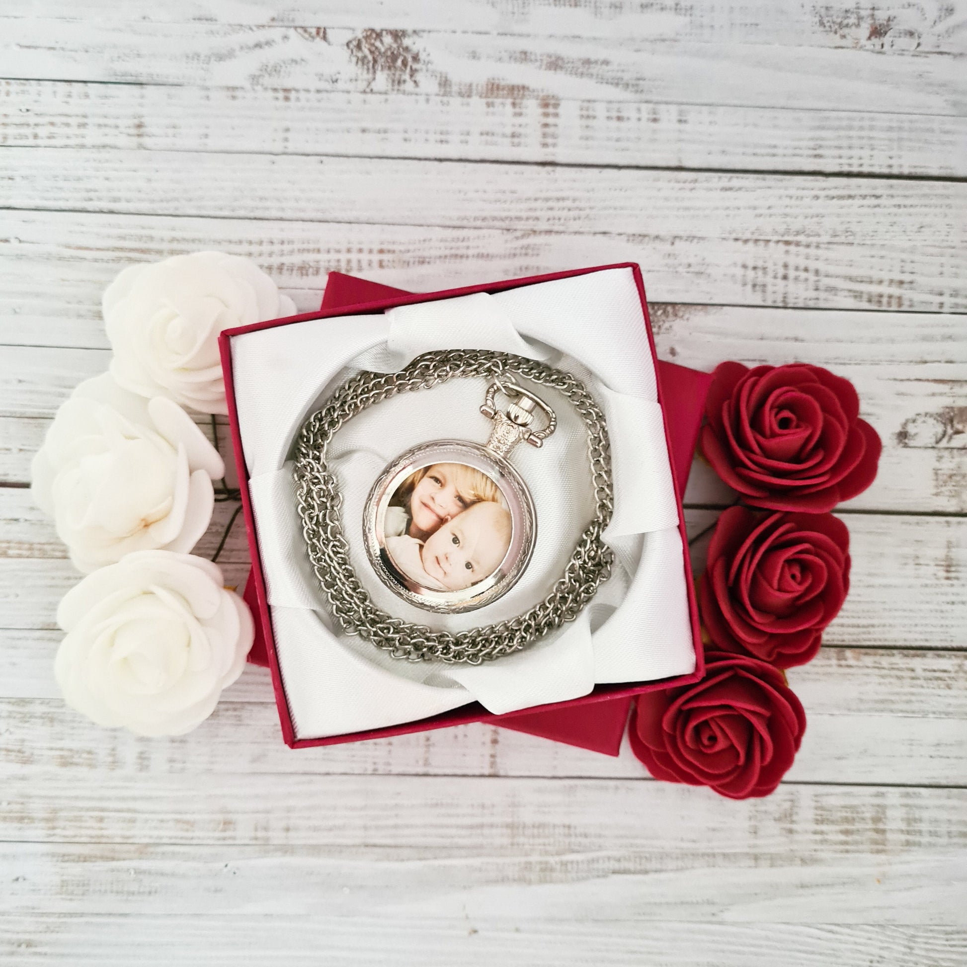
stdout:
[[(0, 844), (0, 918), (376, 914), (528, 923), (962, 923), (967, 856), (796, 856), (660, 849), (624, 855), (427, 859), (333, 857), (323, 847)], [(723, 890), (727, 882), (728, 889)], [(2, 923), (2, 921), (0, 921)], [(9, 922), (8, 922), (9, 923)], [(4, 929), (0, 926), (0, 932)], [(715, 961), (718, 963), (718, 961)], [(783, 963), (789, 961), (782, 959)], [(837, 961), (838, 962), (838, 961)]]

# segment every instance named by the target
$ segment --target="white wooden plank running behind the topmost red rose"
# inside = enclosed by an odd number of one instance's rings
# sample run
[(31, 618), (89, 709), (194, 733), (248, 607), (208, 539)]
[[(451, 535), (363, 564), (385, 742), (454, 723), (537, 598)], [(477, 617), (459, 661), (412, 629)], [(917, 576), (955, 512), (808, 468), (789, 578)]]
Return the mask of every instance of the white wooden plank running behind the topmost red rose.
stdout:
[[(312, 294), (316, 305), (317, 294)], [(308, 305), (307, 305), (308, 308)], [(876, 482), (848, 507), (967, 512), (967, 323), (962, 316), (653, 306), (659, 356), (711, 370), (804, 362), (852, 379), (864, 417), (884, 443)], [(93, 339), (92, 339), (93, 341)], [(8, 346), (0, 352), (0, 479), (29, 480), (43, 428), (80, 379), (103, 371), (105, 351)], [(44, 423), (45, 426), (45, 423)], [(233, 463), (222, 437), (222, 453)], [(734, 495), (697, 463), (687, 502)]]

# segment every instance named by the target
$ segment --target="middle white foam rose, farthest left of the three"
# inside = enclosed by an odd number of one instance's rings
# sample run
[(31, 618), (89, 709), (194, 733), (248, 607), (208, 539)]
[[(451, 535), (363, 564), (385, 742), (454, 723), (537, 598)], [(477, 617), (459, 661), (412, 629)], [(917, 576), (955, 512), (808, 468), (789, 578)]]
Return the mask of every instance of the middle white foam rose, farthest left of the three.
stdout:
[(190, 551), (225, 465), (177, 403), (136, 396), (104, 373), (57, 411), (31, 469), (34, 501), (87, 573), (131, 551)]

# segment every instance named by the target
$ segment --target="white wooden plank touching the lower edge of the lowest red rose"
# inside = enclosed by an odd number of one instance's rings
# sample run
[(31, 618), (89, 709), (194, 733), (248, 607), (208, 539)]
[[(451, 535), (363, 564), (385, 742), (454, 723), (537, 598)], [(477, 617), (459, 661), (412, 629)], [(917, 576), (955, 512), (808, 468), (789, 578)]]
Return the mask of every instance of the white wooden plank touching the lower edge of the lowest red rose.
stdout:
[[(299, 755), (293, 750), (291, 755)], [(638, 850), (895, 855), (967, 838), (967, 790), (637, 779), (103, 774), (3, 766), (9, 841), (325, 846), (373, 859)], [(683, 817), (688, 821), (683, 822)]]

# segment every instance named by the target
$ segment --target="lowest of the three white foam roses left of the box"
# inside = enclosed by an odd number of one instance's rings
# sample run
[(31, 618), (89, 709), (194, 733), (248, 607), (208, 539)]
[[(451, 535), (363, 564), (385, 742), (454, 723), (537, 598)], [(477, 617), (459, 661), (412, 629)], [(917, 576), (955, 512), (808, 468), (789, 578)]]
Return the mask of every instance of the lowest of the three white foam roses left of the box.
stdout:
[(182, 735), (208, 718), (253, 638), (249, 608), (222, 586), (219, 566), (165, 550), (88, 574), (57, 622), (67, 635), (54, 674), (67, 703), (147, 736)]

